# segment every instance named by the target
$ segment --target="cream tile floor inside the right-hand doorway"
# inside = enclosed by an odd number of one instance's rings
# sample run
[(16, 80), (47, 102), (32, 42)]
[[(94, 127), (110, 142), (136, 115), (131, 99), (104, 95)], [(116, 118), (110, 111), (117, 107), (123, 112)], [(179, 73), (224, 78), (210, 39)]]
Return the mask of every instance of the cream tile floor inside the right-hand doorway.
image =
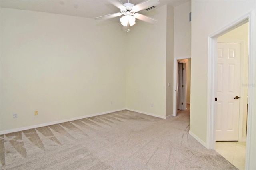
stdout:
[(245, 169), (246, 142), (216, 142), (215, 150), (236, 168)]

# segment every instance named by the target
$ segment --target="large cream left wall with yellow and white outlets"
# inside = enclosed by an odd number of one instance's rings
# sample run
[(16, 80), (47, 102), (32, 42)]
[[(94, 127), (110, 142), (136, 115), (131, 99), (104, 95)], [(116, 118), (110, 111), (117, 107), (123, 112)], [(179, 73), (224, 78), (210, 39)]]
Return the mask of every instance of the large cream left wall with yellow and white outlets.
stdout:
[(1, 8), (0, 130), (124, 108), (126, 36), (118, 22)]

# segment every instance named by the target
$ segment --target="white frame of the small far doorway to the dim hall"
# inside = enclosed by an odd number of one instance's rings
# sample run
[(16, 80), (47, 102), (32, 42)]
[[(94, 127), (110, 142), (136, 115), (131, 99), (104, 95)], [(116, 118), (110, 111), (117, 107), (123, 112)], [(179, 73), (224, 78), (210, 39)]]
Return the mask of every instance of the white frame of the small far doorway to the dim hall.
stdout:
[[(176, 57), (174, 58), (173, 62), (173, 116), (177, 116), (177, 83), (178, 83), (178, 78), (177, 78), (177, 73), (178, 73), (178, 60), (182, 59), (191, 59), (191, 56), (188, 57)], [(184, 62), (185, 63), (185, 62)], [(186, 98), (185, 98), (186, 99)]]

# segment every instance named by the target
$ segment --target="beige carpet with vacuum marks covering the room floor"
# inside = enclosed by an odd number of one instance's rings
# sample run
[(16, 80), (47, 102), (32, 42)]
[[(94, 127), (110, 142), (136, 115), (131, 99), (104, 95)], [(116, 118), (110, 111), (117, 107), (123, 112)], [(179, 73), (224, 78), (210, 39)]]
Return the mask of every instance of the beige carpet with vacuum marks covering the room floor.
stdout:
[(0, 169), (236, 169), (188, 134), (189, 110), (132, 111), (1, 135)]

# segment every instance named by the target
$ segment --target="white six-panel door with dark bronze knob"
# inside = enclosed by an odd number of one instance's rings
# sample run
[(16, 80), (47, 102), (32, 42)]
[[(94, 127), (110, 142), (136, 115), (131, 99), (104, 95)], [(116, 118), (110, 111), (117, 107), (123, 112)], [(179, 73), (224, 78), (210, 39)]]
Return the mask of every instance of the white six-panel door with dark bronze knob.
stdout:
[(216, 141), (238, 141), (240, 43), (218, 43)]

